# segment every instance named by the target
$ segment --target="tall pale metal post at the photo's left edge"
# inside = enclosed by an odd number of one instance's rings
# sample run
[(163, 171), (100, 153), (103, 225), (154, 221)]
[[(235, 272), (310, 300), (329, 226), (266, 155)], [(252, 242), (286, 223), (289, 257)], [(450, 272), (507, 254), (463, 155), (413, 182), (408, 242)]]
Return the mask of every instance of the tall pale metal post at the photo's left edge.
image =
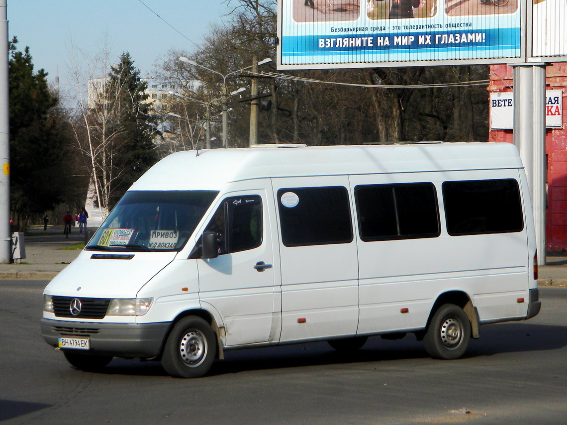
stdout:
[(10, 110), (8, 89), (8, 14), (0, 0), (0, 263), (10, 263)]

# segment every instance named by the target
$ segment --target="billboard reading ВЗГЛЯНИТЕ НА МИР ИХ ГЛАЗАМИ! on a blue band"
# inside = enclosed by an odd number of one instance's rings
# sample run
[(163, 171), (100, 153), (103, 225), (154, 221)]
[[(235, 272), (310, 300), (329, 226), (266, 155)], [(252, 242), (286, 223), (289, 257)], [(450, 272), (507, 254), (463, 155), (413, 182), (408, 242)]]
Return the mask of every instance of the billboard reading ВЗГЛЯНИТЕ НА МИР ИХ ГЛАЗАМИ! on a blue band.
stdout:
[(278, 69), (520, 62), (525, 4), (278, 0)]

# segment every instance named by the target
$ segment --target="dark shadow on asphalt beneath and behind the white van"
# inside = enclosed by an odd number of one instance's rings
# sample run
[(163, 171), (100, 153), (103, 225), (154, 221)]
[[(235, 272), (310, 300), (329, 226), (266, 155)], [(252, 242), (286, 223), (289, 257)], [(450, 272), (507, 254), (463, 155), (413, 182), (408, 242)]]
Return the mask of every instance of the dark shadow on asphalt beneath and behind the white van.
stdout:
[[(567, 346), (567, 326), (510, 322), (482, 326), (480, 335), (480, 339), (471, 341), (464, 359), (507, 352), (557, 350)], [(369, 338), (361, 350), (348, 353), (335, 351), (326, 342), (227, 351), (225, 360), (215, 362), (210, 374), (428, 358), (423, 344), (413, 334), (393, 341), (376, 336)], [(167, 376), (159, 363), (122, 359), (114, 359), (100, 373)]]

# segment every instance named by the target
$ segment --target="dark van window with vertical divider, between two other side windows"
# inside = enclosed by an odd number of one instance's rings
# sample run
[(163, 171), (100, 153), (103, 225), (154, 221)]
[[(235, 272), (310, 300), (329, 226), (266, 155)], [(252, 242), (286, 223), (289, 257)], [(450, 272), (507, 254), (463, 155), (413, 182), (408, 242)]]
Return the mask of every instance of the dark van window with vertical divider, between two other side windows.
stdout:
[(354, 188), (362, 241), (439, 236), (433, 183), (372, 184)]

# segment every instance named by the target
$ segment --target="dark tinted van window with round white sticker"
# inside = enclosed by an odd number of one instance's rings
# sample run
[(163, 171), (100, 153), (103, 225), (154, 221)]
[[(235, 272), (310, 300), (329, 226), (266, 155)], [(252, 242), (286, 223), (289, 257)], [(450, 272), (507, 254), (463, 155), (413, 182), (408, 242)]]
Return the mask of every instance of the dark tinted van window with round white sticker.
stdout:
[(294, 187), (277, 193), (285, 246), (328, 245), (353, 240), (346, 187)]

